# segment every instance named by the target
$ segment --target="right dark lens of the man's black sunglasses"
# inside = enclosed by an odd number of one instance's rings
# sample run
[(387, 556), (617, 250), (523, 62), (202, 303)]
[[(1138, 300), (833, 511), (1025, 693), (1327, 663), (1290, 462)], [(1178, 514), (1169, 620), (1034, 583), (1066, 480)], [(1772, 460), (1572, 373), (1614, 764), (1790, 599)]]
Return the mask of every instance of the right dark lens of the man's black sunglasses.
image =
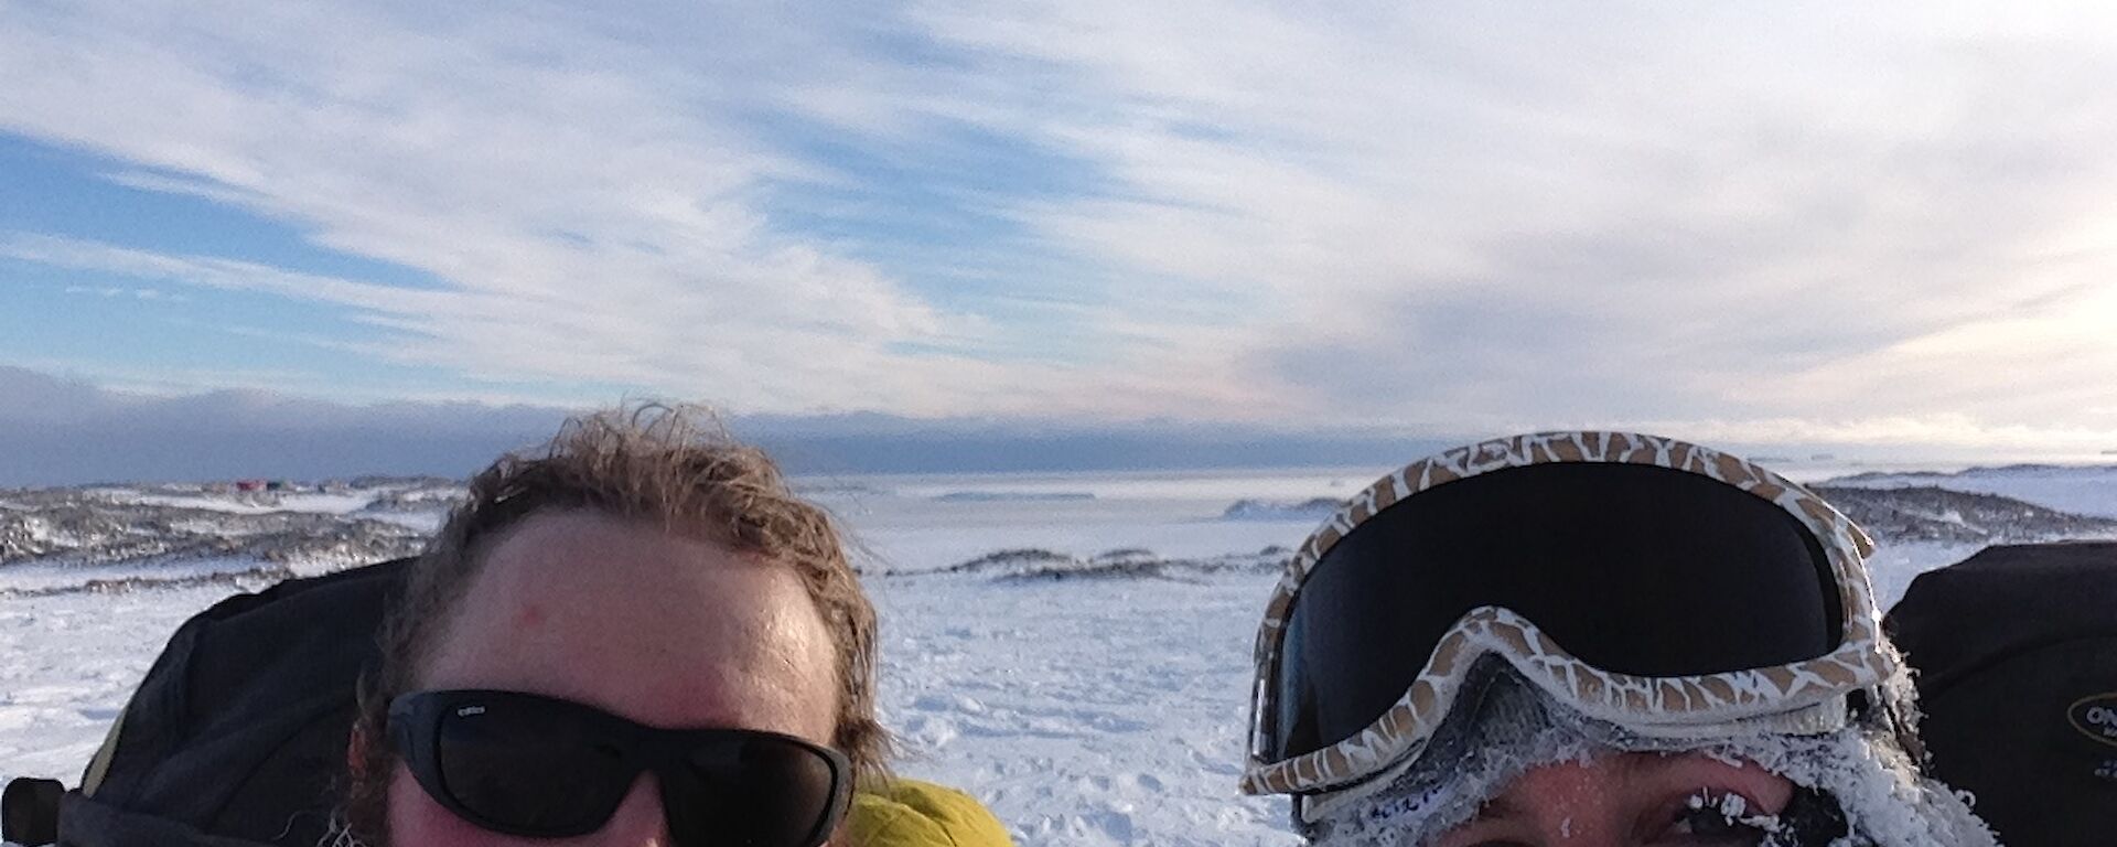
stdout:
[(658, 773), (680, 845), (813, 847), (845, 813), (828, 754), (771, 735), (722, 735)]

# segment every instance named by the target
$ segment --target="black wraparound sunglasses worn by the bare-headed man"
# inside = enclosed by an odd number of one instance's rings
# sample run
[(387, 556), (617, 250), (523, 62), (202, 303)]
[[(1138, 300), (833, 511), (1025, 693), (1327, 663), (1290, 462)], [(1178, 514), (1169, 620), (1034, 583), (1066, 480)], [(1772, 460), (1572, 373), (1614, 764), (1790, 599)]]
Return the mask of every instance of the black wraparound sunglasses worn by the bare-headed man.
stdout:
[(390, 739), (434, 803), (529, 839), (601, 830), (652, 771), (677, 845), (815, 847), (836, 830), (853, 786), (840, 752), (792, 735), (654, 728), (506, 690), (398, 697)]

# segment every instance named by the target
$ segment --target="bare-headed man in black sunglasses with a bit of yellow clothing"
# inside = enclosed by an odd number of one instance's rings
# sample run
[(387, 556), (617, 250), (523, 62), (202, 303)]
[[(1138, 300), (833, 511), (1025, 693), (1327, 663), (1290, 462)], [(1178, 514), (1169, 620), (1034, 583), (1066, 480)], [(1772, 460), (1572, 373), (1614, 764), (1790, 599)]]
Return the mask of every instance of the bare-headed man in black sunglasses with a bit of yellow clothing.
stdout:
[(836, 529), (696, 417), (574, 419), (472, 479), (362, 680), (341, 843), (1008, 843), (967, 796), (887, 779)]

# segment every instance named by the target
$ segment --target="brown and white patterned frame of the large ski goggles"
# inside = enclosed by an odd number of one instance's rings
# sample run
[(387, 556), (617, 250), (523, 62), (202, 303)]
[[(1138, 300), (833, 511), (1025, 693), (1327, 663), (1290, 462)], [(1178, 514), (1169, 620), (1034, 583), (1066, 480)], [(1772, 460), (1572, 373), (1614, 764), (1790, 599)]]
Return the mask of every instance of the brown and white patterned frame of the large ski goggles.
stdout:
[[(1293, 597), (1319, 559), (1365, 519), (1442, 483), (1507, 468), (1554, 462), (1647, 464), (1711, 476), (1791, 512), (1821, 542), (1844, 608), (1844, 633), (1829, 654), (1780, 667), (1641, 678), (1596, 669), (1554, 644), (1535, 623), (1505, 608), (1484, 606), (1465, 614), (1440, 639), (1418, 678), (1380, 718), (1323, 750), (1268, 760), (1272, 690), (1279, 644)], [(1459, 447), (1382, 476), (1323, 521), (1272, 589), (1257, 629), (1257, 682), (1251, 692), (1247, 794), (1302, 794), (1334, 790), (1382, 773), (1416, 754), (1454, 703), (1454, 692), (1476, 659), (1507, 659), (1528, 682), (1590, 718), (1622, 726), (1683, 735), (1685, 728), (1727, 728), (1763, 716), (1783, 716), (1840, 701), (1897, 673), (1897, 659), (1880, 637), (1880, 610), (1867, 584), (1865, 559), (1874, 542), (1831, 504), (1808, 489), (1742, 457), (1675, 438), (1630, 432), (1539, 432)]]

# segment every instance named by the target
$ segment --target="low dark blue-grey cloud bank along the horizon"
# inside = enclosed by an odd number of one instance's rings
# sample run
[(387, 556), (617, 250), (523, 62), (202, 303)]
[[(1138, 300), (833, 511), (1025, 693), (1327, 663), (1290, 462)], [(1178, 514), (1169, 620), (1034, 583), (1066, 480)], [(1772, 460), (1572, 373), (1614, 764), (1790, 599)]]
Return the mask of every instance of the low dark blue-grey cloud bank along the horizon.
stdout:
[[(0, 366), (0, 487), (210, 479), (468, 476), (540, 445), (582, 409), (489, 402), (343, 404), (284, 392), (131, 394)], [(1285, 432), (1188, 421), (881, 413), (732, 415), (732, 432), (798, 474), (1228, 466), (1385, 468), (1440, 447), (1399, 432)]]

